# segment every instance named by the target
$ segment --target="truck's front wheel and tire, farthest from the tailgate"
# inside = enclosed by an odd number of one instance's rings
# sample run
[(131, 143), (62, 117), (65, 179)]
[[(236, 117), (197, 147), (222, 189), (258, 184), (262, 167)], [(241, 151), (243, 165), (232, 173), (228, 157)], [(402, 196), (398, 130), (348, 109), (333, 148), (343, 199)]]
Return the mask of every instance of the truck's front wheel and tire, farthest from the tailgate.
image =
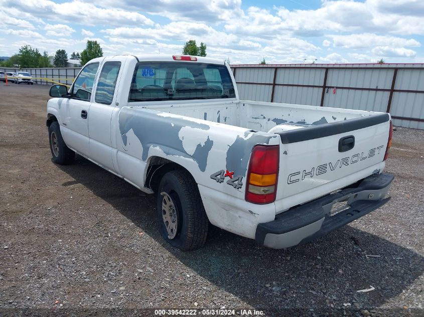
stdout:
[(60, 133), (59, 123), (54, 121), (49, 127), (49, 143), (52, 152), (53, 162), (59, 165), (72, 164), (75, 159), (75, 152), (68, 148)]

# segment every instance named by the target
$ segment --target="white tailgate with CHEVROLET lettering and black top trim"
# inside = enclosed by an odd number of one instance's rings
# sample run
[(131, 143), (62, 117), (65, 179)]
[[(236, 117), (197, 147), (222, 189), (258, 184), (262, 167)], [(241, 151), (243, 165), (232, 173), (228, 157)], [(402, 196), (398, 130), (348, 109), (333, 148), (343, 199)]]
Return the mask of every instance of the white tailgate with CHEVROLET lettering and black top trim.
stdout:
[(380, 172), (389, 120), (388, 114), (376, 113), (278, 133), (277, 213)]

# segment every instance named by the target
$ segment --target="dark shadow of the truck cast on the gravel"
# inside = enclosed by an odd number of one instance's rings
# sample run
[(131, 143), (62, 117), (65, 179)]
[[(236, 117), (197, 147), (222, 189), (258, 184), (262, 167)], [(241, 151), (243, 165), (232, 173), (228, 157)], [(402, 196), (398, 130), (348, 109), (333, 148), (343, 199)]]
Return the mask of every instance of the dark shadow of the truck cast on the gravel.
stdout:
[[(361, 307), (377, 307), (390, 298), (401, 297), (402, 291), (424, 272), (419, 254), (352, 226), (287, 250), (259, 247), (253, 240), (212, 226), (202, 249), (181, 252), (159, 234), (153, 210), (155, 195), (144, 196), (124, 180), (79, 156), (74, 165), (59, 168), (111, 204), (185, 265), (258, 308), (330, 308), (354, 302)], [(365, 254), (380, 257), (366, 258)], [(370, 285), (376, 289), (357, 292)]]

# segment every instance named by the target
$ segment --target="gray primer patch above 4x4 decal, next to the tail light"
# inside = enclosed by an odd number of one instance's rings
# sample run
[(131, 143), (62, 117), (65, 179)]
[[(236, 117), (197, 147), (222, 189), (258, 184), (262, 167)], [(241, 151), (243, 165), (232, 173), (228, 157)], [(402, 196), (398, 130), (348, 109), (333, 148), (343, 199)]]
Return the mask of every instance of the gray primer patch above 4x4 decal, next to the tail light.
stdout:
[(250, 159), (250, 154), (256, 144), (269, 144), (269, 140), (276, 136), (269, 136), (263, 132), (244, 132), (244, 137), (250, 138), (243, 139), (238, 135), (234, 143), (231, 144), (227, 150), (226, 169), (234, 172), (234, 176), (246, 175), (247, 163)]

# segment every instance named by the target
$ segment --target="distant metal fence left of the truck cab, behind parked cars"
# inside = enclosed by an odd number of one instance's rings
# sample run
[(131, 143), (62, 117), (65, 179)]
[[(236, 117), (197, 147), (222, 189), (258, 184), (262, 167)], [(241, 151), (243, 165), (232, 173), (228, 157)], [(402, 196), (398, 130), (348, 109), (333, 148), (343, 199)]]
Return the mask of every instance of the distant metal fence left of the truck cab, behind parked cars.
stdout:
[(75, 68), (0, 68), (3, 72), (27, 72), (34, 77), (34, 82), (41, 85), (61, 83), (71, 85), (78, 75), (80, 67)]

